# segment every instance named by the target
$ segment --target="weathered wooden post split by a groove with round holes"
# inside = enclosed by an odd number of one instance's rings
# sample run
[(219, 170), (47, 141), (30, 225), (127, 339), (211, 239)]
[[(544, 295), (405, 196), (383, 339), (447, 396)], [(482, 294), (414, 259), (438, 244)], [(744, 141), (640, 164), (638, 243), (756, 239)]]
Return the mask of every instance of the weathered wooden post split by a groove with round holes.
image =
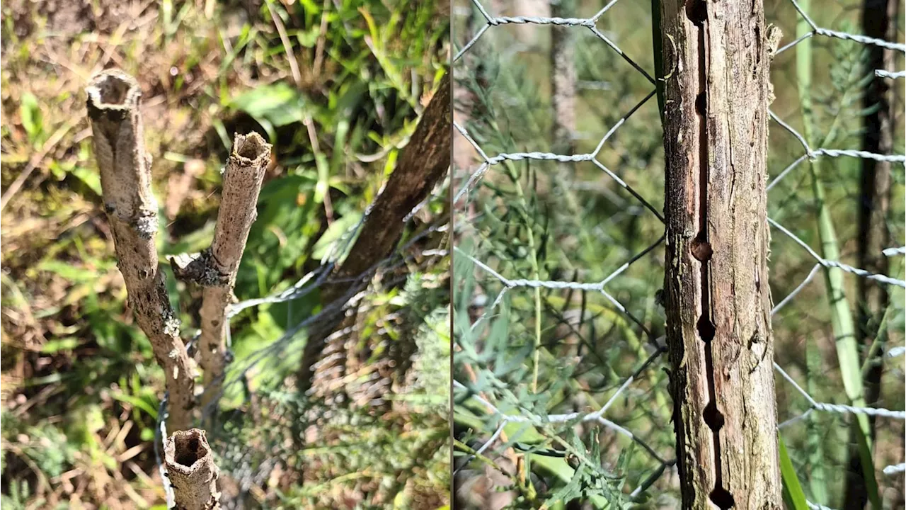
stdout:
[(779, 509), (760, 0), (660, 2), (665, 297), (684, 509)]

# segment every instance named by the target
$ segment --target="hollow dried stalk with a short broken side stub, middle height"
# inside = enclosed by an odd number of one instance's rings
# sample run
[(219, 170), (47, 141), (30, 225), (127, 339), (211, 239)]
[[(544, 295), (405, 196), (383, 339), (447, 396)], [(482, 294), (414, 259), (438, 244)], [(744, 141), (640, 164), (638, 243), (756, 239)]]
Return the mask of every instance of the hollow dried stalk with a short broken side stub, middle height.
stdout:
[(226, 367), (226, 307), (233, 299), (236, 271), (246, 250), (248, 230), (257, 215), (258, 192), (270, 162), (271, 145), (256, 132), (236, 134), (233, 152), (226, 162), (223, 195), (217, 212), (214, 241), (209, 249), (185, 267), (173, 260), (178, 278), (195, 280), (202, 293), (201, 337), (198, 361), (204, 369), (206, 408), (217, 402)]

